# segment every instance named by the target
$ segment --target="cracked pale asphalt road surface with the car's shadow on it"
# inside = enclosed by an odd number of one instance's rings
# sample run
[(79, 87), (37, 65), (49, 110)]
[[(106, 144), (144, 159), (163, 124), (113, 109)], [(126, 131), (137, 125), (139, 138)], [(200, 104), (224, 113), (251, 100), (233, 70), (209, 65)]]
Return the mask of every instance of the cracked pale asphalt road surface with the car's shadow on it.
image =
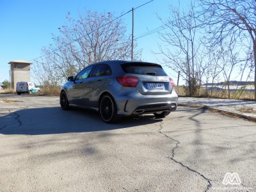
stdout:
[(256, 124), (204, 109), (109, 125), (58, 97), (0, 95), (0, 146), (0, 191), (256, 189)]

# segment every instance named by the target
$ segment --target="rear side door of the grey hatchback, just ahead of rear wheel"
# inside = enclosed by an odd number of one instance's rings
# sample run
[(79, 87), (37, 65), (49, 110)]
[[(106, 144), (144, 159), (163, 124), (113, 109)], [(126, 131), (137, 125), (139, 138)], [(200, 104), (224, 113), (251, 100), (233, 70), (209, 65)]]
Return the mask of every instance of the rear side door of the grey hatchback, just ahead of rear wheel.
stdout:
[(92, 75), (88, 79), (90, 83), (87, 84), (86, 88), (88, 90), (85, 96), (88, 98), (87, 106), (97, 109), (99, 94), (102, 92), (102, 89), (106, 89), (106, 86), (108, 86), (110, 76), (111, 68), (107, 64), (99, 64), (93, 69)]

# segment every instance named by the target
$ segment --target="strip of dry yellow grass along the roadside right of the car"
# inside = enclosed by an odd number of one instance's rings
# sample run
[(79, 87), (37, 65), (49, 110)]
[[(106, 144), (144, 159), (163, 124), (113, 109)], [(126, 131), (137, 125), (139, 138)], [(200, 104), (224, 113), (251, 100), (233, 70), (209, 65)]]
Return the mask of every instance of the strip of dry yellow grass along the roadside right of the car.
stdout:
[[(179, 96), (188, 96), (186, 88), (184, 86), (175, 87), (175, 91)], [(199, 90), (199, 93), (194, 97), (209, 97), (209, 98), (220, 98), (220, 99), (228, 99), (227, 91), (207, 91), (204, 88)], [(254, 92), (230, 92), (230, 99), (245, 99), (245, 100), (253, 100)]]

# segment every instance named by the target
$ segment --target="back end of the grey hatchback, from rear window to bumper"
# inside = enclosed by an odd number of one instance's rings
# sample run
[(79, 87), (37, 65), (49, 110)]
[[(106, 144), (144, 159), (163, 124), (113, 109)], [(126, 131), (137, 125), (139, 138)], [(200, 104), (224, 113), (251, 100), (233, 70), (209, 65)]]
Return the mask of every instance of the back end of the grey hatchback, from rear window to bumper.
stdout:
[(172, 78), (161, 65), (144, 62), (120, 64), (115, 81), (115, 101), (119, 116), (175, 111), (177, 93)]

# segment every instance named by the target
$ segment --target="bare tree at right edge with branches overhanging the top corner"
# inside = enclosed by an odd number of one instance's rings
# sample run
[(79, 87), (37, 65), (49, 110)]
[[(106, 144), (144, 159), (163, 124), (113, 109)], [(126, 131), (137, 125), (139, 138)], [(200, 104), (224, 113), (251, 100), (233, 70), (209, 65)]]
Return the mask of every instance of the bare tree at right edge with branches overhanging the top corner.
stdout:
[[(256, 1), (255, 0), (199, 0), (201, 21), (208, 29), (211, 45), (241, 45), (253, 47), (254, 86), (256, 99)], [(250, 39), (251, 41), (245, 41)]]

